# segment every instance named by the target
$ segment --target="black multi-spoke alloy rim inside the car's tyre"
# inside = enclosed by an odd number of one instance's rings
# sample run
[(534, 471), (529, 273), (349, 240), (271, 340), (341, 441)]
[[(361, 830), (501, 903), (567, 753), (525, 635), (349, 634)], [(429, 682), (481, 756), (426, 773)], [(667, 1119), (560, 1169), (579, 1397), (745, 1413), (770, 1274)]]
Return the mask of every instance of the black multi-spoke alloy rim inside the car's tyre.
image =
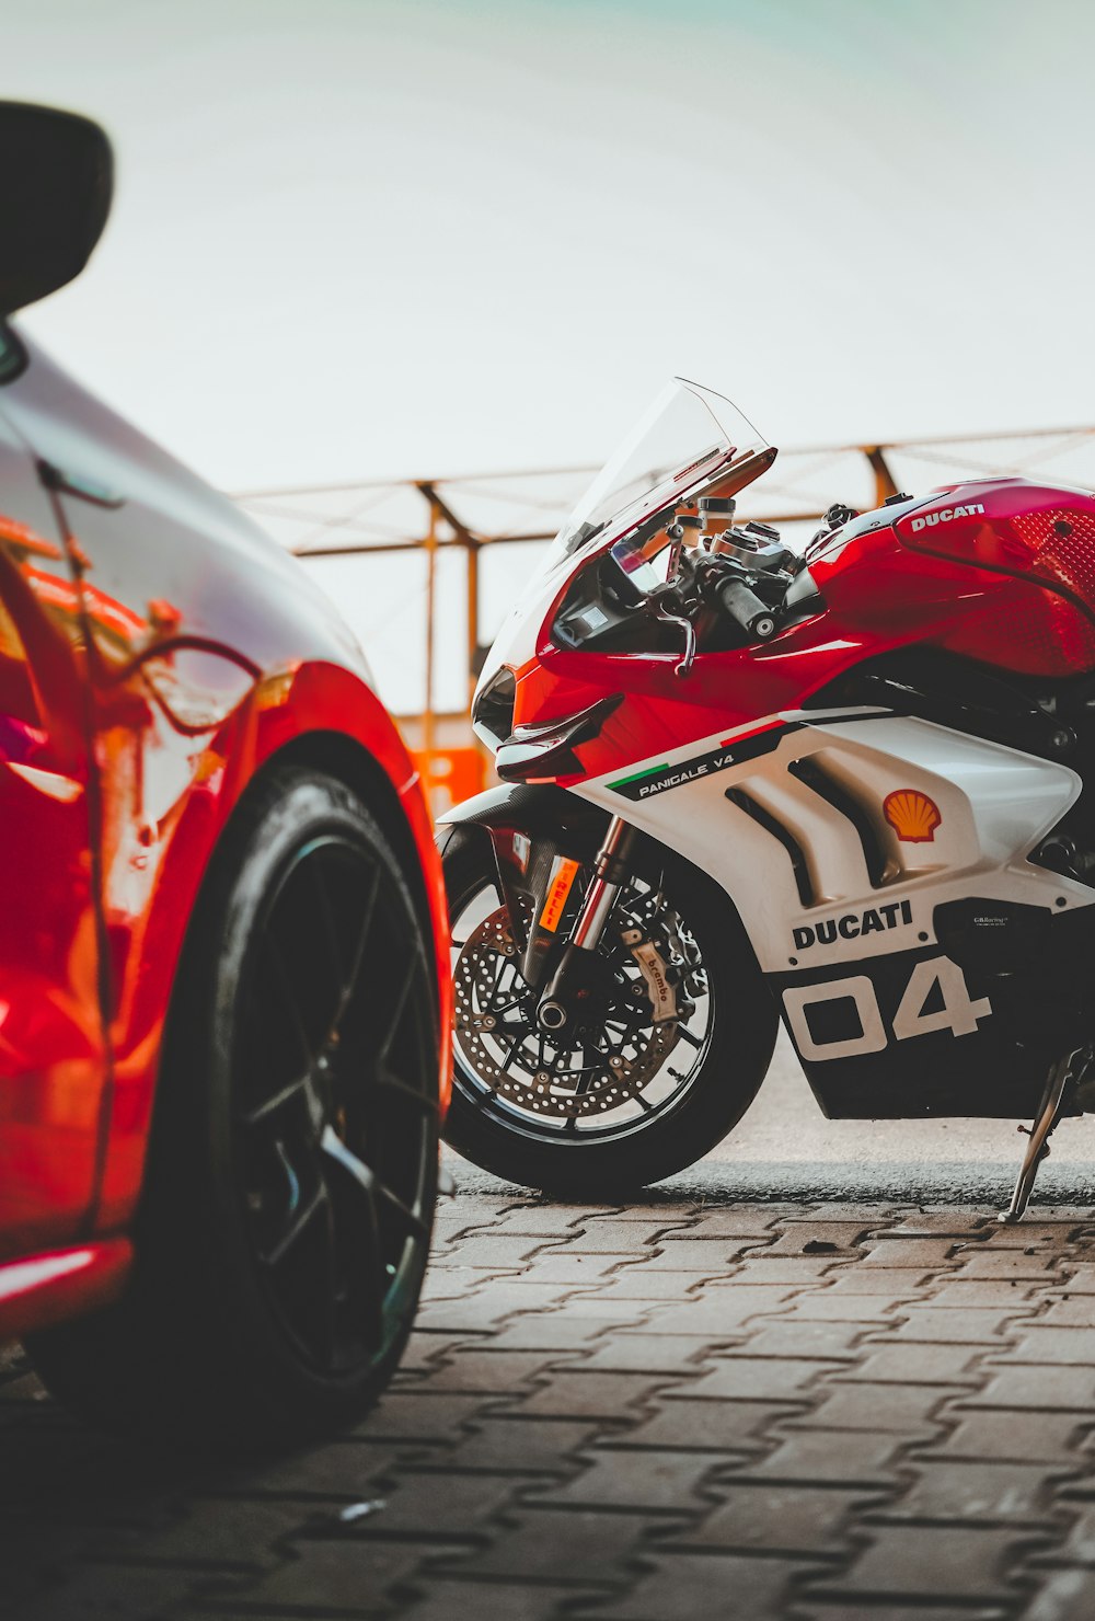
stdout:
[(324, 1378), (382, 1362), (415, 1310), (437, 1153), (431, 986), (368, 845), (313, 838), (240, 976), (235, 1161), (261, 1287)]

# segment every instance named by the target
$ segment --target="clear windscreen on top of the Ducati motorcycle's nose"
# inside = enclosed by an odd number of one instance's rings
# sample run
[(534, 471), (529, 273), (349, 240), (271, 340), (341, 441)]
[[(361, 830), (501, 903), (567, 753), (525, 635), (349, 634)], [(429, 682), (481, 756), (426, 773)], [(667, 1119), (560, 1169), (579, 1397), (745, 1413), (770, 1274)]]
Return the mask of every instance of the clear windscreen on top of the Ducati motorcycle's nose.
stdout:
[(674, 378), (582, 496), (544, 569), (763, 449), (766, 441), (731, 400)]

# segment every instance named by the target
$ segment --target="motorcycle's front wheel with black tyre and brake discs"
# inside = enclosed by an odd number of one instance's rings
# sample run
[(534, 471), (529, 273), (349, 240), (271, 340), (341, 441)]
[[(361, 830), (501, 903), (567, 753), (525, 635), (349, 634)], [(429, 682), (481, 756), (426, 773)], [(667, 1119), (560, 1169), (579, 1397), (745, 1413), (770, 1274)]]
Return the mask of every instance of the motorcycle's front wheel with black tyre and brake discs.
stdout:
[[(457, 989), (445, 1138), (473, 1164), (564, 1198), (606, 1200), (695, 1164), (732, 1131), (771, 1063), (778, 1015), (721, 888), (669, 851), (646, 858), (601, 942), (606, 1008), (567, 1049), (535, 1023), (481, 828), (439, 840)], [(664, 856), (664, 864), (661, 862)], [(653, 1023), (628, 927), (661, 942), (687, 984)]]

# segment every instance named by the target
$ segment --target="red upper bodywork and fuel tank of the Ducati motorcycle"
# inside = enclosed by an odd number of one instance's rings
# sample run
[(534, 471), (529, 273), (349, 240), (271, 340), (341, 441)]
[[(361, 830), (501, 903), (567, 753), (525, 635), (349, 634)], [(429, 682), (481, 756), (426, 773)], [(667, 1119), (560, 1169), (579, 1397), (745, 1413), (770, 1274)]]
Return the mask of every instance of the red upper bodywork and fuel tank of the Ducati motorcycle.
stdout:
[(854, 519), (812, 556), (810, 572), (816, 614), (771, 642), (701, 650), (687, 681), (674, 674), (677, 652), (554, 645), (556, 603), (536, 657), (515, 669), (513, 725), (624, 694), (599, 736), (578, 747), (582, 772), (559, 778), (565, 788), (799, 708), (865, 658), (902, 647), (1050, 679), (1095, 669), (1095, 498), (1079, 490), (1022, 478), (952, 485), (899, 517), (883, 507)]

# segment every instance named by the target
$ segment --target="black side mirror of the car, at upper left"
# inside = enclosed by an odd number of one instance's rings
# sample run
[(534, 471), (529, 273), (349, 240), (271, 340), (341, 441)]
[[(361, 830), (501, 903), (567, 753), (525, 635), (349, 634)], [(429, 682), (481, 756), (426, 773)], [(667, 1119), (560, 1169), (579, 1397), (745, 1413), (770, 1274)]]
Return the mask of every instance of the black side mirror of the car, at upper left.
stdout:
[(0, 316), (79, 276), (112, 191), (113, 152), (97, 123), (0, 102)]

